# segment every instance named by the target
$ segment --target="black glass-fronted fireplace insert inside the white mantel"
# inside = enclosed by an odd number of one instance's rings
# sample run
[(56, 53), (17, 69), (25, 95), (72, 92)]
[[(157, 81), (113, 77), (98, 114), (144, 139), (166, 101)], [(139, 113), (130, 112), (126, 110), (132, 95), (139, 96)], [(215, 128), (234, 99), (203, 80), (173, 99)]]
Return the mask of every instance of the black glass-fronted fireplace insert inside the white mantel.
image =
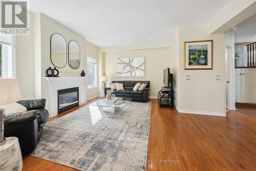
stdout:
[(79, 106), (79, 87), (58, 90), (58, 114)]

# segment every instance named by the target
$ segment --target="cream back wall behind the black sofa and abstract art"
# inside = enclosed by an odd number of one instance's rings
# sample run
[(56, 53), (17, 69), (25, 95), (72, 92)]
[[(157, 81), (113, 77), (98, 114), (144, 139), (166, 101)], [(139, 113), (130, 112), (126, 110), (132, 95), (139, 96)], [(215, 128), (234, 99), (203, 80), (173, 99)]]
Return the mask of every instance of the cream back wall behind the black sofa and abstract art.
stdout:
[[(170, 48), (117, 50), (105, 52), (105, 75), (109, 81), (150, 81), (150, 97), (156, 98), (163, 86), (163, 70), (170, 67)], [(145, 77), (117, 77), (116, 62), (120, 57), (145, 57)], [(171, 69), (172, 70), (172, 69)]]

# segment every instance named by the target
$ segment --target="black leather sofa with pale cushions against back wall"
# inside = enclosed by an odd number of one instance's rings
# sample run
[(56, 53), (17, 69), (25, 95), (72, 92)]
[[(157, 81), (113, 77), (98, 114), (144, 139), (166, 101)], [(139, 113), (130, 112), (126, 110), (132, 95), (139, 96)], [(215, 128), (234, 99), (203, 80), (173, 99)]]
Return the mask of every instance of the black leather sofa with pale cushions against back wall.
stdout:
[[(132, 98), (133, 101), (147, 101), (147, 95), (148, 91), (150, 90), (150, 81), (112, 81), (112, 83), (122, 83), (124, 90), (113, 90), (116, 97), (122, 97), (122, 98)], [(136, 83), (147, 83), (146, 88), (143, 91), (133, 91), (134, 86)], [(105, 88), (104, 93), (106, 95), (106, 90), (110, 90), (111, 88)]]

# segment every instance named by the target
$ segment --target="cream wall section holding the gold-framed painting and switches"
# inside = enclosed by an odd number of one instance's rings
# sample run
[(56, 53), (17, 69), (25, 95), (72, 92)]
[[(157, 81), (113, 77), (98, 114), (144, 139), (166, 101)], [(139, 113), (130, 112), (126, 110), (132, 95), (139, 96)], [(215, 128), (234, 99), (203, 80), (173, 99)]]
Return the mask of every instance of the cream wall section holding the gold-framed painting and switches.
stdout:
[[(225, 116), (224, 64), (225, 43), (223, 34), (209, 35), (209, 23), (180, 25), (179, 30), (179, 107), (183, 113)], [(213, 40), (213, 69), (184, 70), (184, 41)], [(171, 61), (173, 62), (173, 60)], [(174, 60), (174, 62), (176, 62)], [(191, 80), (185, 80), (190, 75)], [(222, 80), (215, 80), (221, 75)], [(177, 89), (177, 88), (176, 88)], [(176, 104), (177, 105), (177, 104)]]

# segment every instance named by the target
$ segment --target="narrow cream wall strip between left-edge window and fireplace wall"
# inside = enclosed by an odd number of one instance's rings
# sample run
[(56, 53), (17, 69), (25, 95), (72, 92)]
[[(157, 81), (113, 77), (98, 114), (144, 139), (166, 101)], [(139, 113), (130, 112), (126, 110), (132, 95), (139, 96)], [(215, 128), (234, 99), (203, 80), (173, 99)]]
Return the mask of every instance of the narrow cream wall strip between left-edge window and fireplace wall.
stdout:
[(34, 99), (34, 15), (30, 13), (30, 35), (16, 36), (16, 76), (22, 99)]

